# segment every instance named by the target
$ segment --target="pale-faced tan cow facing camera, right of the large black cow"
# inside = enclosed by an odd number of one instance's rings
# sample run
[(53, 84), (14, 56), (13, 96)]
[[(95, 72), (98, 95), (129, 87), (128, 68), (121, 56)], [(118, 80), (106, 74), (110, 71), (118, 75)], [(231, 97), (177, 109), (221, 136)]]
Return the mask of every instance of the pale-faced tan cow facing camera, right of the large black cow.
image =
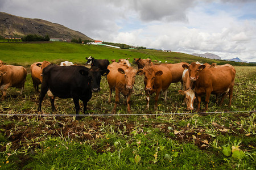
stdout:
[(110, 70), (107, 75), (110, 90), (109, 103), (111, 101), (112, 91), (115, 90), (115, 105), (112, 113), (116, 113), (120, 92), (123, 96), (127, 97), (127, 112), (131, 113), (130, 97), (133, 92), (135, 76), (138, 74), (138, 71), (133, 69), (133, 67), (121, 63), (117, 63), (115, 66), (109, 65), (108, 69)]

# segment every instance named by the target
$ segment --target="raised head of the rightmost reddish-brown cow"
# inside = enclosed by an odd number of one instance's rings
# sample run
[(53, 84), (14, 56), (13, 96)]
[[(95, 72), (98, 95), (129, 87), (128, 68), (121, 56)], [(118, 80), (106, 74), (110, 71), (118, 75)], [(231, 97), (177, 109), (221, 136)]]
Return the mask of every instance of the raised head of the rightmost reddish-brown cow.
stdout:
[(182, 65), (184, 69), (188, 69), (189, 80), (195, 82), (199, 78), (199, 71), (205, 68), (205, 65), (197, 65), (195, 62), (192, 62), (190, 65)]

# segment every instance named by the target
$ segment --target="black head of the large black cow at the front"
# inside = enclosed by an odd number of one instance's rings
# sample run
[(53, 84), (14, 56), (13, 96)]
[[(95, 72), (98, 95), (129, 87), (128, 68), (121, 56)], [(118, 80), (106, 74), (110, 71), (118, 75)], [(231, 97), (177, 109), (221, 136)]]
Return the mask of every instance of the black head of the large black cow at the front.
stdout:
[(101, 83), (101, 76), (109, 74), (109, 70), (101, 70), (98, 67), (92, 67), (88, 71), (88, 76), (90, 80), (90, 88), (92, 92), (99, 92), (101, 91), (100, 83)]

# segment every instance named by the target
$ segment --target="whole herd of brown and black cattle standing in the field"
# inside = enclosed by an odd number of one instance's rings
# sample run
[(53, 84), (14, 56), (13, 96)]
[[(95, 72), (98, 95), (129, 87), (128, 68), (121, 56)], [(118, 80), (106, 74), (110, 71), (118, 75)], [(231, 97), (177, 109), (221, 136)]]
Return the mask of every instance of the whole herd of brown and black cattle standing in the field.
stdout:
[[(109, 84), (109, 100), (111, 102), (112, 91), (115, 91), (115, 105), (112, 113), (116, 113), (120, 93), (127, 97), (127, 112), (131, 113), (130, 97), (135, 84), (135, 76), (144, 76), (144, 90), (146, 94), (146, 107), (149, 108), (150, 95), (155, 93), (155, 105), (158, 107), (160, 92), (167, 100), (167, 90), (171, 83), (181, 82), (181, 95), (184, 95), (183, 104), (187, 104), (188, 110), (193, 110), (193, 102), (197, 100), (196, 112), (200, 111), (201, 96), (205, 97), (205, 109), (208, 109), (210, 94), (222, 95), (220, 105), (229, 94), (229, 107), (233, 96), (234, 79), (236, 69), (226, 64), (217, 66), (199, 62), (181, 63), (153, 63), (151, 59), (134, 58), (138, 70), (134, 69), (127, 59), (119, 59), (118, 62), (108, 59), (86, 58), (86, 64), (91, 67), (73, 65), (72, 62), (61, 62), (55, 65), (48, 61), (36, 62), (31, 65), (31, 77), (35, 92), (39, 92), (39, 84), (42, 84), (38, 111), (41, 111), (44, 96), (48, 94), (52, 111), (55, 111), (55, 96), (62, 99), (72, 98), (75, 104), (76, 114), (79, 114), (79, 100), (86, 105), (92, 97), (92, 92), (100, 91), (101, 76), (106, 76)], [(21, 88), (23, 92), (27, 70), (22, 66), (6, 65), (0, 60), (0, 90), (2, 99), (6, 96), (9, 87)], [(79, 118), (79, 117), (76, 117)]]

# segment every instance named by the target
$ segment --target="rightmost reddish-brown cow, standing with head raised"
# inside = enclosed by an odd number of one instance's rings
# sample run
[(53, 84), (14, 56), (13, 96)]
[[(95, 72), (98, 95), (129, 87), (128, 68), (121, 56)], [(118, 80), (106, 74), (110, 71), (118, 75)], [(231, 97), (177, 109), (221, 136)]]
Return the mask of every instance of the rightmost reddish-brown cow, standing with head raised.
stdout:
[(205, 109), (208, 109), (210, 94), (223, 94), (220, 105), (224, 101), (224, 97), (229, 92), (229, 107), (233, 97), (234, 78), (236, 70), (229, 66), (205, 68), (205, 65), (197, 65), (192, 62), (191, 65), (183, 65), (184, 69), (188, 69), (189, 80), (195, 84), (195, 92), (197, 96), (197, 110), (200, 110), (201, 95), (206, 94)]

